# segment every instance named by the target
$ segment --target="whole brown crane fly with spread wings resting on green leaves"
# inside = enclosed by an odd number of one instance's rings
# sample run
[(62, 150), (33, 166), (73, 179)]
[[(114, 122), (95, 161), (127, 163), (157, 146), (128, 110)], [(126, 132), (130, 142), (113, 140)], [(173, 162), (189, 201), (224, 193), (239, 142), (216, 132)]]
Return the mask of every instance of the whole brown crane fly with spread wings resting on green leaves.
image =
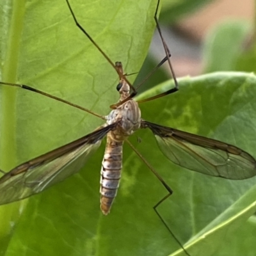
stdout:
[[(136, 95), (136, 90), (129, 83), (127, 76), (122, 67), (122, 63), (117, 61), (112, 63), (109, 57), (102, 51), (102, 49), (95, 43), (90, 35), (77, 22), (77, 19), (72, 11), (70, 4), (68, 8), (72, 14), (81, 31), (91, 40), (92, 44), (99, 49), (106, 60), (115, 68), (119, 83), (116, 90), (120, 93), (120, 100), (118, 103), (111, 105), (113, 109), (108, 116), (101, 116), (93, 113), (89, 109), (81, 108), (76, 104), (71, 104), (66, 100), (49, 95), (48, 93), (36, 90), (25, 84), (13, 84), (0, 82), (9, 86), (17, 86), (29, 90), (31, 92), (40, 93), (52, 99), (59, 100), (76, 108), (83, 109), (92, 115), (98, 116), (106, 121), (106, 123), (76, 141), (72, 141), (67, 145), (56, 148), (51, 152), (47, 152), (42, 156), (35, 157), (26, 163), (4, 173), (0, 178), (0, 204), (8, 204), (15, 202), (28, 196), (40, 193), (50, 186), (66, 179), (70, 175), (78, 172), (86, 163), (88, 158), (92, 156), (93, 152), (97, 150), (103, 138), (107, 138), (106, 150), (102, 161), (101, 180), (100, 180), (100, 208), (103, 214), (108, 214), (116, 192), (119, 186), (121, 170), (122, 170), (122, 146), (127, 142), (136, 154), (147, 164), (147, 166), (154, 172), (164, 187), (172, 194), (172, 189), (164, 182), (163, 179), (154, 171), (154, 169), (142, 158), (140, 153), (134, 148), (127, 138), (138, 129), (150, 129), (156, 137), (159, 148), (170, 161), (179, 166), (193, 170), (195, 172), (204, 173), (214, 177), (222, 177), (225, 179), (248, 179), (256, 175), (256, 161), (255, 159), (244, 152), (240, 148), (233, 145), (228, 145), (221, 141), (212, 140), (195, 134), (184, 131), (179, 131), (171, 127), (164, 127), (159, 124), (153, 124), (141, 118), (140, 108), (138, 103), (157, 99), (174, 92), (177, 92), (178, 84), (174, 73), (173, 79), (175, 87), (167, 92), (156, 95), (146, 100), (136, 102), (133, 97)], [(155, 20), (157, 29), (161, 36), (159, 24), (157, 22), (157, 11), (159, 1), (157, 1), (157, 8), (155, 13)], [(163, 37), (162, 42), (166, 58), (161, 62), (168, 61), (170, 69), (170, 52), (165, 44)], [(158, 67), (158, 66), (157, 66)], [(132, 91), (132, 92), (130, 92)], [(72, 168), (70, 168), (72, 166)]]

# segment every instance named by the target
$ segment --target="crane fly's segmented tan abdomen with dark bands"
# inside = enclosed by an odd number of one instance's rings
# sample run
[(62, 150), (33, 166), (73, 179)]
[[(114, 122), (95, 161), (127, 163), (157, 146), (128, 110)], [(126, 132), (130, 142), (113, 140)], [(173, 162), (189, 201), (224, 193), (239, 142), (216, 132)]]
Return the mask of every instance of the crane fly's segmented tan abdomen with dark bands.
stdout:
[(100, 209), (108, 214), (116, 196), (122, 170), (123, 141), (115, 141), (109, 132), (100, 171)]

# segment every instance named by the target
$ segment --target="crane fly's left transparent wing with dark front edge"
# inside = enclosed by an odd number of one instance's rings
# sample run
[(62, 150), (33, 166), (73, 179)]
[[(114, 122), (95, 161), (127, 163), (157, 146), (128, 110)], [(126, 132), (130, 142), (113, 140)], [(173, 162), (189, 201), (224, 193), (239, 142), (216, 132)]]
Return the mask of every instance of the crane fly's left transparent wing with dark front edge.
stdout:
[(0, 178), (0, 205), (40, 193), (78, 172), (115, 124), (20, 164)]

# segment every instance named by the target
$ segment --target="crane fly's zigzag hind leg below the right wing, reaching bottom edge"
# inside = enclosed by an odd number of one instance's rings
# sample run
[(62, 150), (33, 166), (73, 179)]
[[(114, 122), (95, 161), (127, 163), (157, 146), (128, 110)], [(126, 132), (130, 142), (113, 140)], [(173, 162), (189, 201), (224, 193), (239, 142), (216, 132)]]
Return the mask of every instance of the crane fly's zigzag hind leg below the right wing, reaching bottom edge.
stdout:
[(125, 142), (127, 142), (127, 144), (132, 148), (132, 150), (134, 150), (134, 152), (138, 155), (138, 157), (140, 157), (140, 159), (143, 161), (143, 163), (145, 163), (148, 168), (150, 169), (150, 171), (152, 173), (154, 173), (154, 175), (156, 175), (157, 179), (160, 180), (160, 182), (163, 184), (164, 188), (167, 189), (168, 191), (168, 195), (164, 196), (164, 198), (162, 198), (153, 208), (154, 211), (156, 212), (157, 216), (160, 218), (160, 220), (163, 222), (164, 226), (168, 229), (168, 231), (170, 232), (170, 234), (172, 234), (173, 238), (175, 239), (175, 241), (177, 241), (177, 243), (179, 244), (180, 248), (182, 248), (184, 250), (184, 252), (186, 253), (186, 255), (189, 255), (189, 253), (185, 250), (185, 248), (183, 247), (183, 245), (180, 243), (179, 239), (177, 239), (177, 237), (175, 236), (175, 234), (173, 234), (172, 230), (168, 227), (168, 225), (164, 222), (163, 218), (161, 217), (161, 215), (159, 214), (159, 212), (157, 211), (157, 207), (162, 204), (164, 202), (164, 200), (166, 200), (166, 198), (168, 198), (170, 195), (172, 195), (173, 191), (172, 189), (168, 186), (168, 184), (166, 184), (166, 182), (164, 182), (163, 178), (159, 175), (159, 173), (156, 172), (156, 170), (154, 170), (154, 168), (148, 163), (148, 161), (140, 154), (140, 152), (138, 152), (138, 150), (132, 145), (132, 143), (129, 140), (125, 140)]

